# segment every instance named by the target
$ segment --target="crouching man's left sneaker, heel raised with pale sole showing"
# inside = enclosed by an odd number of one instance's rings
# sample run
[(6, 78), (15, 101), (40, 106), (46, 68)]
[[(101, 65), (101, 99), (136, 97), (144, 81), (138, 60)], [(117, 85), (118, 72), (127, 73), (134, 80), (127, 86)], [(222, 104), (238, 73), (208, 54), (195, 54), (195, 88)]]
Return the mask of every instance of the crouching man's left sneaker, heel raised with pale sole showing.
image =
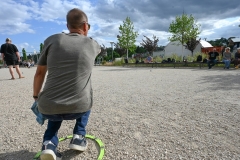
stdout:
[(42, 146), (40, 160), (61, 160), (62, 155), (57, 152), (57, 146), (51, 141), (45, 141)]

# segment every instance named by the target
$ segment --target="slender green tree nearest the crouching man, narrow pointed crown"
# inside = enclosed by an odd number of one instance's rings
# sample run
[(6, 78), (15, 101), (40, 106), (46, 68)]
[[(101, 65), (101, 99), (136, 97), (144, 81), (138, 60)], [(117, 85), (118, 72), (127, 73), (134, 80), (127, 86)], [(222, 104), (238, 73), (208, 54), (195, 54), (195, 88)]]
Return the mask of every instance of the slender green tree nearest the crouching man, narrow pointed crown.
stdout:
[(136, 49), (136, 38), (138, 33), (134, 31), (133, 22), (130, 20), (129, 17), (123, 21), (123, 25), (119, 27), (120, 35), (117, 36), (118, 42), (121, 48), (127, 50), (127, 58), (128, 58), (128, 51), (133, 52)]

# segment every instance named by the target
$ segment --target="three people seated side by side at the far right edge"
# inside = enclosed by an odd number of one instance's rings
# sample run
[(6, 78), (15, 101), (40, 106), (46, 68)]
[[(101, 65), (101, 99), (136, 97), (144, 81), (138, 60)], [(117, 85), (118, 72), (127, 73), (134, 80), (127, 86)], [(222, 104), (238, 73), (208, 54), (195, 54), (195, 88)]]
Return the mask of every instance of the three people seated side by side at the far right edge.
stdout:
[[(219, 53), (216, 51), (216, 48), (213, 48), (213, 51), (208, 53), (208, 69), (211, 69), (218, 61), (220, 61)], [(238, 69), (240, 67), (240, 47), (237, 48), (234, 58), (232, 58), (230, 48), (226, 47), (223, 52), (222, 61), (224, 62), (224, 69), (229, 69), (232, 61), (234, 62), (235, 69)]]

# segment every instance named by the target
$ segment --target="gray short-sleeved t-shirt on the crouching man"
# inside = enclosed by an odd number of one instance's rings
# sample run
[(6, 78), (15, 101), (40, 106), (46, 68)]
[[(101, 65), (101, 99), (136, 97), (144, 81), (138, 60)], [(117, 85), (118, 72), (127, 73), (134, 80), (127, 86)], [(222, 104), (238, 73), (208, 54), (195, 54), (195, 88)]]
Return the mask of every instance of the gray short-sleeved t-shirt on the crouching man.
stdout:
[(41, 113), (82, 113), (91, 109), (91, 73), (100, 51), (96, 41), (77, 33), (56, 34), (44, 41), (38, 65), (47, 65), (48, 74), (37, 100)]

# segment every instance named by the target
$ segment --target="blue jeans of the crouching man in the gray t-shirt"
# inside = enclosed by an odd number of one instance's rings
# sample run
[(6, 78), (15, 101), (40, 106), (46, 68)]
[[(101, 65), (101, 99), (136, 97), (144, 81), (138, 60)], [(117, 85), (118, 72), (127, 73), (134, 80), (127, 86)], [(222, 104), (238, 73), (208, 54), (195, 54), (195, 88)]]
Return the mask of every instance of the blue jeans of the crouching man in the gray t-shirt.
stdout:
[(47, 129), (43, 136), (43, 142), (50, 140), (56, 146), (58, 145), (58, 130), (61, 127), (63, 120), (74, 120), (76, 124), (73, 129), (73, 134), (86, 135), (86, 126), (91, 110), (84, 113), (73, 113), (73, 114), (55, 114), (45, 115), (43, 117), (48, 119)]

